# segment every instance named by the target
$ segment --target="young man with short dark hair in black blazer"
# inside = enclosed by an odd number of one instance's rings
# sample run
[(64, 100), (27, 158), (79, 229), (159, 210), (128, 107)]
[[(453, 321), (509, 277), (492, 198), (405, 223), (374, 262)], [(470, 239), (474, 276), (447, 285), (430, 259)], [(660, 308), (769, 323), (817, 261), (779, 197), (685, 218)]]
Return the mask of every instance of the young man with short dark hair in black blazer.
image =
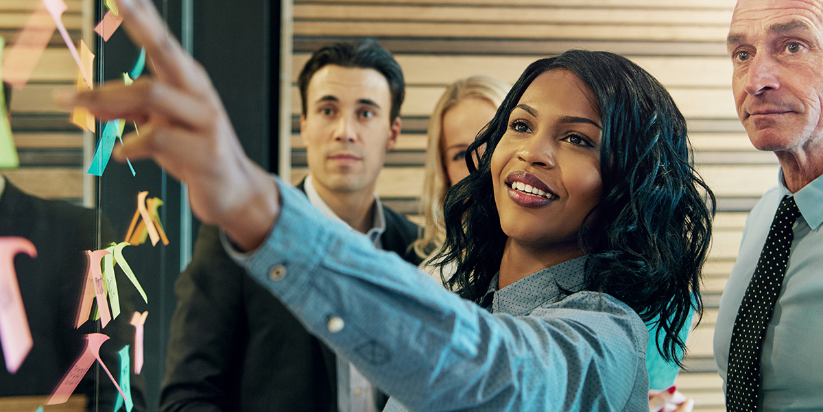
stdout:
[[(374, 194), (400, 134), (398, 63), (374, 40), (331, 44), (312, 55), (298, 82), (309, 164), (298, 187), (324, 215), (419, 263), (409, 248), (416, 225)], [(385, 397), (245, 275), (216, 228), (200, 229), (175, 294), (161, 411), (382, 410)]]

